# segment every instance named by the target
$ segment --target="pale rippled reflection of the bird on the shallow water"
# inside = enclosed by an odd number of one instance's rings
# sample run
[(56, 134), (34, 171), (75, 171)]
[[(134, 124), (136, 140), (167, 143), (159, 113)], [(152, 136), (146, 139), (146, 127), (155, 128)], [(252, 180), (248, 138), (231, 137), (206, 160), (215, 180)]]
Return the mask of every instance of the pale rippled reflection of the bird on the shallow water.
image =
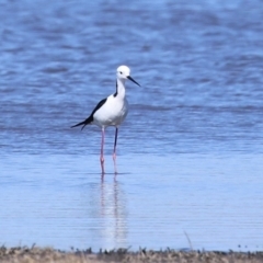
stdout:
[[(101, 181), (102, 236), (105, 249), (127, 247), (127, 211), (124, 192), (116, 180)], [(104, 247), (103, 247), (104, 248)]]

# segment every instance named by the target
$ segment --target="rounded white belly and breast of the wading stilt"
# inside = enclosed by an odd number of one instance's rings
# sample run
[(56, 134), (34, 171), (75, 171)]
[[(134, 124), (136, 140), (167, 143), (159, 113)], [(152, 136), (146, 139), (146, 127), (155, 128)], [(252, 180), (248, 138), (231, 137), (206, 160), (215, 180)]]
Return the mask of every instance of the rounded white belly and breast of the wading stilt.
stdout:
[(93, 123), (100, 127), (118, 126), (128, 114), (128, 102), (108, 96), (106, 102), (93, 115)]

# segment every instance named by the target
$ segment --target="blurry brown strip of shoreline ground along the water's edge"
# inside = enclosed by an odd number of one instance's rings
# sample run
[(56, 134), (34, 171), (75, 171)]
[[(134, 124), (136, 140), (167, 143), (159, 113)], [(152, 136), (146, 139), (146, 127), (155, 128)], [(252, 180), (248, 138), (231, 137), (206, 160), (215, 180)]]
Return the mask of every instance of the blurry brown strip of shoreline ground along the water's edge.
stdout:
[(88, 262), (263, 262), (263, 252), (205, 252), (205, 251), (152, 251), (140, 249), (130, 252), (127, 249), (92, 252), (91, 249), (69, 252), (53, 248), (16, 247), (0, 248), (1, 263), (88, 263)]

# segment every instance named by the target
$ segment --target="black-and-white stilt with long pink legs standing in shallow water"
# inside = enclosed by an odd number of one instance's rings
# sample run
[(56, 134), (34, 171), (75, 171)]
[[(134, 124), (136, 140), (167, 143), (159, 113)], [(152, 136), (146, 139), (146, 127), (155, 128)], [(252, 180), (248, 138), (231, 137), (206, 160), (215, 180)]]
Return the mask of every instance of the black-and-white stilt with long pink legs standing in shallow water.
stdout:
[(81, 123), (78, 123), (71, 128), (83, 125), (81, 130), (88, 124), (95, 124), (102, 129), (102, 141), (101, 141), (101, 169), (102, 174), (105, 173), (104, 170), (104, 156), (103, 156), (103, 146), (104, 146), (104, 135), (105, 128), (107, 126), (115, 126), (115, 140), (113, 149), (113, 161), (114, 170), (117, 173), (116, 167), (116, 145), (117, 145), (117, 134), (118, 126), (123, 123), (128, 113), (128, 101), (125, 98), (125, 81), (127, 79), (132, 80), (134, 83), (140, 85), (136, 82), (130, 76), (130, 69), (127, 66), (119, 66), (117, 68), (117, 81), (116, 81), (116, 92), (106, 99), (103, 99), (98, 103), (95, 108), (92, 111), (90, 116)]

